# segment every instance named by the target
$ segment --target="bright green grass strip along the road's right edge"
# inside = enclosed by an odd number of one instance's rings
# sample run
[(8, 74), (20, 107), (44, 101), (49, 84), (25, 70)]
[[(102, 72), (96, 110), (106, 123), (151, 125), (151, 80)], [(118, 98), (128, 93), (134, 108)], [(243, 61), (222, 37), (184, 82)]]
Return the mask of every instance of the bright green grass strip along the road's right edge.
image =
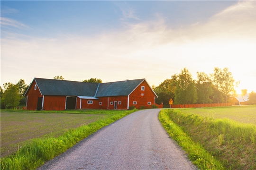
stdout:
[(159, 120), (166, 132), (188, 153), (189, 159), (201, 170), (224, 170), (220, 161), (208, 153), (201, 144), (192, 141), (169, 117), (171, 110), (161, 110)]

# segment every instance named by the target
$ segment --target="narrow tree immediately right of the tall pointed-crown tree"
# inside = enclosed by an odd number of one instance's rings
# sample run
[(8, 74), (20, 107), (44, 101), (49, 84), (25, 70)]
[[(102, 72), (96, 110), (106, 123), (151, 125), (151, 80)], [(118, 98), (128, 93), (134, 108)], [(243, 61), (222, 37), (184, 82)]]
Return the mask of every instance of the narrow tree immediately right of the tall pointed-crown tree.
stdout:
[(204, 72), (197, 72), (197, 103), (211, 103), (213, 93), (210, 77)]

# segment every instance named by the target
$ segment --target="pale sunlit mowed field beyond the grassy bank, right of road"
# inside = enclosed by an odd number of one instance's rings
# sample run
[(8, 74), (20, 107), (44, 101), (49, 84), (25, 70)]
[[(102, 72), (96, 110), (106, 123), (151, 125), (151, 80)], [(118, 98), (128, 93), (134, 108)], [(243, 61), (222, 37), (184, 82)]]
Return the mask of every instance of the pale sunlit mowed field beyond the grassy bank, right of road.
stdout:
[(227, 118), (256, 125), (256, 105), (183, 109), (182, 112), (209, 116), (214, 119)]

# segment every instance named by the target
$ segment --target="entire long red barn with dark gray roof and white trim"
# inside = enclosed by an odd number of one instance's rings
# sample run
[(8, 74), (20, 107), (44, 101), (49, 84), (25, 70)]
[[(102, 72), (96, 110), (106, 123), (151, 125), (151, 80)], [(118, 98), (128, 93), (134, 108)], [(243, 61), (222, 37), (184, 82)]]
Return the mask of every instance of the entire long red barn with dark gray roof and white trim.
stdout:
[(85, 83), (34, 78), (25, 93), (27, 110), (151, 108), (157, 95), (146, 79)]

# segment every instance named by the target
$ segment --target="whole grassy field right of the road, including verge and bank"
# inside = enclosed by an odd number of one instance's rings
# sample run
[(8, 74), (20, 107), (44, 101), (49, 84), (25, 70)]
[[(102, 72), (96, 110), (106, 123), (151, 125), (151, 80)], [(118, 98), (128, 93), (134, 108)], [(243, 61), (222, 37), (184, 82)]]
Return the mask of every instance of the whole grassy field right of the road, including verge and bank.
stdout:
[(256, 105), (161, 110), (159, 119), (201, 169), (256, 169)]

